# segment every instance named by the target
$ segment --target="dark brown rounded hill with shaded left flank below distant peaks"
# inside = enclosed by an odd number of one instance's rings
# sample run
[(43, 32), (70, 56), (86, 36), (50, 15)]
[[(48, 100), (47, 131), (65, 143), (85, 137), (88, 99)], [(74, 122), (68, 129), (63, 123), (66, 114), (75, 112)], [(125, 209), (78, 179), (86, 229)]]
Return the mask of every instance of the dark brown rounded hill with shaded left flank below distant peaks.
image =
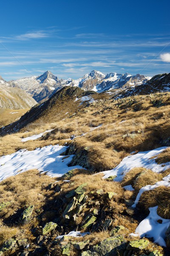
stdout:
[[(96, 98), (107, 99), (110, 97), (108, 95), (97, 94), (93, 91), (85, 92), (79, 87), (63, 87), (46, 102), (31, 108), (20, 120), (3, 127), (2, 130), (0, 129), (0, 135), (19, 131), (29, 123), (30, 125), (42, 125), (45, 122), (60, 120), (63, 118), (62, 115), (77, 113), (83, 108), (83, 102), (95, 102)], [(59, 116), (57, 113), (62, 114)]]

